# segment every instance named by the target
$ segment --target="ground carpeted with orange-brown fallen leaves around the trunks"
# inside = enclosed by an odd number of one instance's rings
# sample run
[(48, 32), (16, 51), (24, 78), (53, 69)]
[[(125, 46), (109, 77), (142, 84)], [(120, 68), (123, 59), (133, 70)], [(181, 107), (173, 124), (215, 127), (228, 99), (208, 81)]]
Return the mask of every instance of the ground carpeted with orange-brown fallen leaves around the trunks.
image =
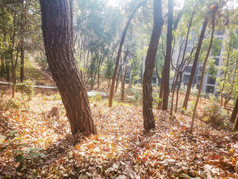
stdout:
[[(176, 114), (170, 121), (168, 113), (154, 110), (156, 129), (144, 133), (140, 106), (117, 103), (109, 108), (106, 100), (92, 101), (98, 134), (72, 145), (65, 140), (70, 127), (58, 95), (35, 95), (29, 106), (1, 109), (0, 133), (16, 130), (21, 143), (42, 148), (44, 157), (24, 160), (16, 171), (12, 151), (4, 150), (2, 177), (238, 178), (237, 134), (199, 120), (191, 135), (190, 117)], [(59, 119), (46, 115), (52, 107), (60, 109)]]

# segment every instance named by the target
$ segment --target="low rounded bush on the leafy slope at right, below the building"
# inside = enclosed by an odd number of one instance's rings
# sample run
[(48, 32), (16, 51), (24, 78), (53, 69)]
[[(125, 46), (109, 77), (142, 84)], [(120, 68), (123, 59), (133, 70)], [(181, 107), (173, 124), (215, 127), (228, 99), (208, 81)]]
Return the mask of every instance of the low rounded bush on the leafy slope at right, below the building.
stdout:
[(233, 124), (229, 121), (230, 114), (219, 104), (211, 103), (204, 107), (203, 120), (214, 127), (232, 130)]

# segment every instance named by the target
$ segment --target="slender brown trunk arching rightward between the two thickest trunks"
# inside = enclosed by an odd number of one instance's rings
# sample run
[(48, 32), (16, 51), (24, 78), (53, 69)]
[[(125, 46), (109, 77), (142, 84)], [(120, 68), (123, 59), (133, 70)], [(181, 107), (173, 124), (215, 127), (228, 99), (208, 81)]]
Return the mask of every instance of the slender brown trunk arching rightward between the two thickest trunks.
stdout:
[(140, 3), (135, 10), (132, 12), (131, 16), (129, 17), (127, 23), (126, 23), (126, 27), (123, 31), (122, 37), (121, 37), (121, 41), (120, 41), (120, 46), (118, 49), (118, 53), (117, 53), (117, 59), (116, 59), (116, 65), (114, 68), (114, 72), (113, 72), (113, 76), (112, 76), (112, 85), (111, 85), (111, 90), (110, 90), (110, 97), (109, 97), (109, 107), (112, 107), (112, 101), (113, 101), (113, 95), (114, 95), (114, 87), (115, 87), (115, 82), (116, 82), (116, 76), (117, 76), (117, 69), (119, 66), (119, 61), (120, 61), (120, 57), (121, 57), (121, 51), (122, 51), (122, 46), (124, 44), (125, 38), (126, 38), (126, 33), (127, 30), (129, 28), (129, 25), (131, 23), (131, 20), (133, 19), (135, 13), (137, 12), (137, 10), (145, 3), (145, 1), (143, 1), (142, 3)]

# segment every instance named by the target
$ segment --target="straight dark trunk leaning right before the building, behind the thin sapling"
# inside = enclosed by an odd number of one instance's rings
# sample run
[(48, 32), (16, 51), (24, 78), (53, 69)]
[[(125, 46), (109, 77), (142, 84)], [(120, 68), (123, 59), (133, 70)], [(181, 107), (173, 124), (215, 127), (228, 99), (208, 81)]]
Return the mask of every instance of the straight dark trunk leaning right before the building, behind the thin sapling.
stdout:
[(206, 32), (208, 21), (209, 20), (206, 18), (203, 22), (202, 31), (201, 31), (201, 34), (200, 34), (200, 37), (199, 37), (199, 42), (198, 42), (195, 58), (194, 58), (194, 61), (193, 61), (193, 67), (192, 67), (189, 83), (188, 83), (188, 86), (187, 86), (187, 92), (186, 92), (184, 103), (183, 103), (183, 109), (184, 110), (187, 110), (188, 100), (189, 100), (189, 96), (190, 96), (190, 92), (191, 92), (191, 88), (192, 88), (192, 84), (193, 84), (193, 78), (194, 78), (194, 75), (195, 75), (195, 72), (196, 72), (197, 62), (198, 62), (199, 54), (200, 54), (200, 51), (201, 51), (202, 42), (203, 42), (203, 38), (204, 38), (204, 35), (205, 35), (205, 32)]

